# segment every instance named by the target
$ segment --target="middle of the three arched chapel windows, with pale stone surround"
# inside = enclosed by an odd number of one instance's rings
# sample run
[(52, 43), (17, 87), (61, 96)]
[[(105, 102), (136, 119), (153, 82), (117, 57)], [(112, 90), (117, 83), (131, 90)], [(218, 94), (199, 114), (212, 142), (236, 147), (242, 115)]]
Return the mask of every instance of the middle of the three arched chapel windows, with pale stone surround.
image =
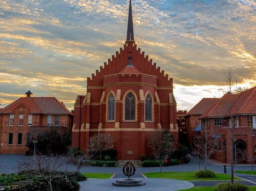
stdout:
[(135, 97), (131, 92), (125, 98), (125, 120), (135, 120)]

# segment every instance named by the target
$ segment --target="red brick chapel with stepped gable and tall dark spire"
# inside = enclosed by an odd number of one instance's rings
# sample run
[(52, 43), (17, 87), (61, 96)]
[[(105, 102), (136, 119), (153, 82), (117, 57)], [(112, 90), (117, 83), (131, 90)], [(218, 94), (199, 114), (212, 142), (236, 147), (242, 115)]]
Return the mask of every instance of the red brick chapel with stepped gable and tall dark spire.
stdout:
[(160, 129), (178, 141), (173, 78), (137, 48), (131, 1), (124, 47), (87, 78), (87, 93), (77, 96), (73, 113), (72, 146), (85, 150), (89, 137), (106, 132), (115, 138), (118, 160), (149, 154), (147, 137)]

